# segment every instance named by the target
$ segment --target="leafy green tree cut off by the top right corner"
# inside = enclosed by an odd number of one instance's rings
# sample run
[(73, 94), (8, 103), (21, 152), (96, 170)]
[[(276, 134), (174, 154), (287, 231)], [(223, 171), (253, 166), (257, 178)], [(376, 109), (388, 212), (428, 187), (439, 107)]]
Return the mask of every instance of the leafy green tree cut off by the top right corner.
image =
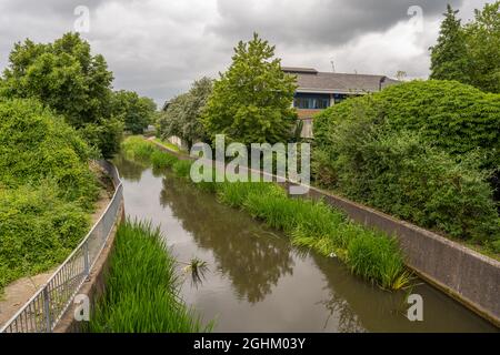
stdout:
[(464, 28), (470, 57), (470, 83), (500, 93), (500, 1), (476, 10)]

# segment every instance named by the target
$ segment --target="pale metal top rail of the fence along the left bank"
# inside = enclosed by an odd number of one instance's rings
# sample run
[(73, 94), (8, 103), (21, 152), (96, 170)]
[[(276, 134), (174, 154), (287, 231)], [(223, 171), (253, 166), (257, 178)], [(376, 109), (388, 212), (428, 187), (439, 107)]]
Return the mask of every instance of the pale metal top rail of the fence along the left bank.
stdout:
[[(43, 291), (49, 286), (49, 284), (59, 275), (59, 273), (61, 272), (61, 270), (68, 265), (71, 260), (73, 258), (73, 256), (81, 250), (81, 247), (89, 241), (89, 239), (92, 236), (93, 232), (96, 231), (96, 229), (98, 227), (98, 225), (101, 223), (101, 221), (103, 220), (104, 215), (108, 214), (108, 211), (111, 209), (112, 204), (116, 202), (116, 199), (118, 196), (119, 193), (121, 193), (123, 185), (122, 185), (122, 180), (120, 179), (120, 174), (118, 172), (118, 169), (107, 162), (107, 161), (98, 161), (98, 164), (100, 164), (104, 170), (109, 170), (111, 169), (112, 171), (108, 171), (108, 173), (113, 178), (113, 184), (114, 184), (114, 193), (110, 200), (110, 202), (108, 203), (106, 210), (101, 213), (101, 215), (99, 216), (99, 219), (96, 221), (96, 223), (92, 225), (92, 227), (90, 229), (90, 231), (87, 233), (87, 235), (83, 237), (83, 240), (73, 248), (73, 251), (70, 253), (70, 255), (64, 260), (64, 262), (61, 263), (61, 265), (58, 266), (58, 268), (56, 270), (56, 272), (49, 277), (49, 280), (24, 303), (24, 305), (19, 308), (14, 315), (3, 325), (0, 327), (0, 333), (4, 333), (7, 328), (9, 328), (14, 322), (17, 322), (17, 320), (22, 315), (22, 313), (40, 296), (42, 296)], [(103, 166), (107, 165), (107, 166)], [(122, 195), (121, 195), (122, 196)], [(104, 239), (104, 241), (108, 239), (109, 233), (107, 235), (107, 237)], [(99, 253), (97, 255), (100, 255), (102, 251), (102, 247), (100, 248)], [(92, 262), (92, 265), (94, 264), (94, 262)], [(77, 288), (79, 288), (80, 286), (78, 286)]]

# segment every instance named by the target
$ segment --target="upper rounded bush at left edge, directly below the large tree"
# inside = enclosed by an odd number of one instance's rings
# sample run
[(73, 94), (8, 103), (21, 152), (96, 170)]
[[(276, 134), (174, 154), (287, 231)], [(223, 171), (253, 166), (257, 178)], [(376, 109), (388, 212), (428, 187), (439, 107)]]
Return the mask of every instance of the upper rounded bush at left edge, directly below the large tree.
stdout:
[(0, 183), (16, 187), (51, 178), (67, 201), (91, 207), (91, 150), (62, 119), (32, 100), (0, 101)]

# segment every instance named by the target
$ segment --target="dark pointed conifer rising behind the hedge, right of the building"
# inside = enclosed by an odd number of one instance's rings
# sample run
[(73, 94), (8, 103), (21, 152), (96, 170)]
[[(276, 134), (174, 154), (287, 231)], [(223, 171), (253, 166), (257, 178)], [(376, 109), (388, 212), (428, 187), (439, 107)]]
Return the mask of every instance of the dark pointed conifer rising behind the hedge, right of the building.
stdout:
[(447, 13), (443, 13), (438, 43), (430, 48), (431, 79), (469, 81), (466, 34), (458, 12), (448, 4)]

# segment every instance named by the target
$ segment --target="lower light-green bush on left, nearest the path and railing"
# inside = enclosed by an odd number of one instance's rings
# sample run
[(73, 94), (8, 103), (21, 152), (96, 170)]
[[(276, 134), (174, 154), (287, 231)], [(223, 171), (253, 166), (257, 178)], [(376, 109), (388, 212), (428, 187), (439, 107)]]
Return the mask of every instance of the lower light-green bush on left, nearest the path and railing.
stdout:
[(86, 234), (88, 213), (53, 180), (0, 187), (0, 290), (61, 263)]

